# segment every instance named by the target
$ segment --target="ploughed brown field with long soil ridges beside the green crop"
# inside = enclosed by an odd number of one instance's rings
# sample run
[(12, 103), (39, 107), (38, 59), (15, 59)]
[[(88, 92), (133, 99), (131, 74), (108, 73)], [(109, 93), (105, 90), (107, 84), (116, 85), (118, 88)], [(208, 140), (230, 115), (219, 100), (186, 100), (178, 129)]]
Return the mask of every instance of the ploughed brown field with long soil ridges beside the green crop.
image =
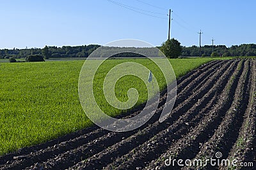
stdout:
[[(205, 160), (217, 152), (220, 159), (253, 162), (256, 168), (256, 60), (214, 60), (177, 80), (177, 88), (175, 106), (163, 123), (158, 118), (166, 92), (139, 129), (109, 132), (93, 126), (4, 155), (0, 169), (197, 169), (164, 162)], [(202, 167), (221, 168), (228, 169)]]

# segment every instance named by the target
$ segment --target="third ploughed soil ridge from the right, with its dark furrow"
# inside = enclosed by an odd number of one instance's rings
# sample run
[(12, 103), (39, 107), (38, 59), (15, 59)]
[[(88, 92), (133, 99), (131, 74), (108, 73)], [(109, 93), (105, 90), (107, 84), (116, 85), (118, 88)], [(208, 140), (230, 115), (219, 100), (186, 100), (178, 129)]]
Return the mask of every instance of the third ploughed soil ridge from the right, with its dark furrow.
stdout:
[[(214, 134), (214, 130), (220, 125), (223, 115), (230, 108), (235, 90), (237, 87), (237, 82), (239, 77), (243, 72), (242, 62), (237, 67), (235, 73), (231, 76), (229, 83), (225, 86), (225, 89), (219, 96), (218, 104), (216, 104), (211, 111), (205, 113), (205, 117), (199, 122), (196, 127), (191, 128), (189, 133), (184, 136), (184, 138), (175, 141), (170, 145), (169, 149), (161, 155), (158, 159), (152, 161), (147, 169), (152, 169), (161, 167), (161, 168), (170, 168), (164, 165), (163, 160), (168, 159), (171, 156), (173, 159), (182, 158), (184, 160), (193, 158), (197, 152), (200, 143), (204, 143), (207, 139), (211, 138)], [(230, 82), (231, 81), (231, 82)], [(179, 169), (180, 167), (172, 167)]]

